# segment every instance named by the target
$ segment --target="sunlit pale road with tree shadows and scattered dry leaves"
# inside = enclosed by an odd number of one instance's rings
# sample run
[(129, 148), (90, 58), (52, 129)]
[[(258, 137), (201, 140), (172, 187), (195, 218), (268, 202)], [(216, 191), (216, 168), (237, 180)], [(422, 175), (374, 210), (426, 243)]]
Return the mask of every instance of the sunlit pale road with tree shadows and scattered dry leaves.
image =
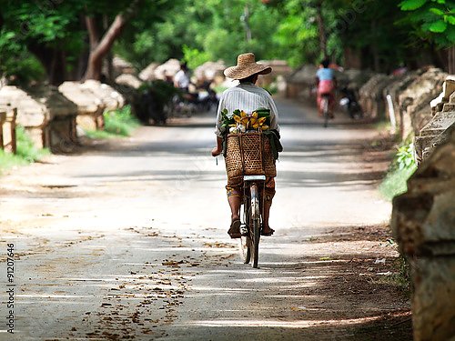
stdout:
[[(334, 295), (335, 246), (309, 243), (389, 219), (375, 189), (386, 161), (361, 157), (376, 132), (343, 118), (324, 129), (288, 100), (278, 109), (277, 232), (262, 239), (259, 269), (241, 263), (226, 233), (224, 164), (208, 156), (212, 115), (141, 127), (3, 177), (0, 257), (13, 243), (16, 286), (15, 335), (2, 322), (0, 339), (340, 339), (362, 316), (395, 309)], [(5, 262), (0, 270), (4, 284)]]

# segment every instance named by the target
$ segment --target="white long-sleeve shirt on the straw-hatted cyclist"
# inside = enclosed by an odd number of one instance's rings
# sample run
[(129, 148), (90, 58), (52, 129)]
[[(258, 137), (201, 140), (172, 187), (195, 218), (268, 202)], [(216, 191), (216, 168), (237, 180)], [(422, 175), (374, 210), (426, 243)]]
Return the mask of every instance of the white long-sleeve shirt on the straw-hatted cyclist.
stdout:
[(217, 110), (217, 125), (215, 134), (218, 137), (223, 136), (223, 128), (221, 127), (221, 111), (227, 109), (227, 113), (231, 114), (234, 110), (243, 110), (247, 114), (251, 114), (258, 108), (270, 109), (270, 129), (279, 131), (278, 125), (278, 110), (273, 98), (262, 87), (252, 83), (240, 83), (237, 86), (227, 89), (219, 99)]

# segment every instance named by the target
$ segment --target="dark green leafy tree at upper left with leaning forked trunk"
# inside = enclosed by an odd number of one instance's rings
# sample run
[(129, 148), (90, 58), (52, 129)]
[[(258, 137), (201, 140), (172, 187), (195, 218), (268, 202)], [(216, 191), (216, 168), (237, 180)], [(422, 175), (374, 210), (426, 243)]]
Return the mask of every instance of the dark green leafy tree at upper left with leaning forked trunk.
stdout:
[[(68, 78), (99, 79), (103, 59), (129, 20), (140, 13), (152, 22), (158, 13), (175, 3), (171, 0), (1, 0), (1, 70), (9, 74), (17, 67), (22, 68), (21, 56), (28, 53), (43, 65), (52, 84), (58, 85)], [(138, 10), (139, 7), (147, 11)]]

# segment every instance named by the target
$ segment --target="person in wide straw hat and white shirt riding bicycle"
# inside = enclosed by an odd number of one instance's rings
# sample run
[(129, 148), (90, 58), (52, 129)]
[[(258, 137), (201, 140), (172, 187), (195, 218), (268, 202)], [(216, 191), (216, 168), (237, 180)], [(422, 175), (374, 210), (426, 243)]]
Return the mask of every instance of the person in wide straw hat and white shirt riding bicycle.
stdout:
[[(228, 67), (224, 71), (224, 75), (228, 78), (237, 79), (239, 84), (227, 89), (219, 100), (215, 130), (215, 134), (217, 135), (217, 146), (212, 149), (213, 156), (222, 153), (223, 137), (228, 133), (221, 125), (221, 112), (224, 109), (227, 109), (228, 113), (232, 113), (235, 110), (243, 110), (244, 112), (251, 114), (260, 107), (268, 108), (270, 110), (270, 129), (276, 130), (278, 133), (277, 106), (266, 90), (255, 85), (258, 81), (258, 75), (267, 75), (271, 71), (271, 67), (256, 63), (255, 55), (252, 53), (238, 55), (237, 65)], [(242, 203), (242, 188), (242, 178), (235, 180), (227, 179), (227, 201), (231, 210), (231, 224), (227, 233), (231, 238), (240, 238), (241, 236), (239, 210)], [(268, 176), (265, 184), (264, 216), (261, 230), (262, 236), (271, 236), (274, 233), (274, 230), (268, 226), (268, 216), (273, 196), (275, 196), (275, 179), (273, 176)]]

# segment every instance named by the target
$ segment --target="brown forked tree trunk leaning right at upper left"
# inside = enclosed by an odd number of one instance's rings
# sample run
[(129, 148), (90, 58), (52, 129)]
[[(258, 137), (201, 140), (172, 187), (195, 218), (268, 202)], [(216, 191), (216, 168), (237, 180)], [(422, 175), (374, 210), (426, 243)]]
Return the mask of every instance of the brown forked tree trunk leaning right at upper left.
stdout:
[(116, 38), (122, 33), (123, 28), (133, 15), (138, 3), (138, 0), (134, 1), (127, 11), (116, 15), (114, 22), (109, 26), (101, 40), (99, 40), (99, 35), (97, 35), (95, 18), (86, 18), (86, 28), (90, 40), (90, 55), (88, 56), (88, 65), (84, 79), (101, 79), (103, 59), (109, 53)]

